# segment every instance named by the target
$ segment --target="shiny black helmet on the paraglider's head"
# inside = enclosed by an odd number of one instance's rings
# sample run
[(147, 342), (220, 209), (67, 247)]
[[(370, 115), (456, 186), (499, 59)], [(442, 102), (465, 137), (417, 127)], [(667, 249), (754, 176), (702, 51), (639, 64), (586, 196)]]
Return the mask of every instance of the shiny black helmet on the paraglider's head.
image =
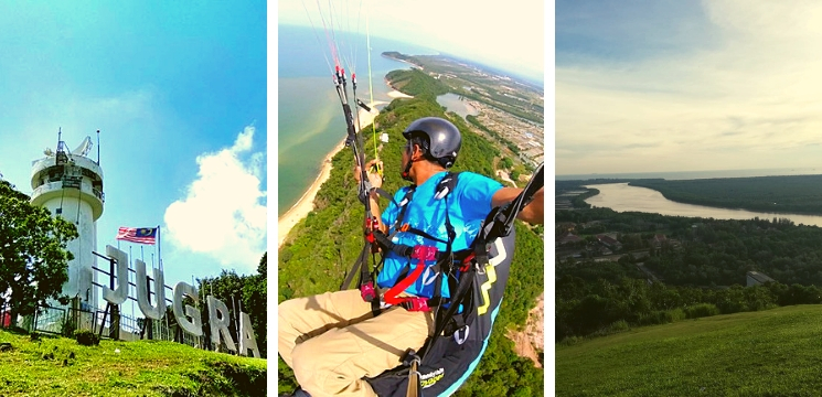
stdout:
[(414, 120), (403, 131), (403, 137), (407, 140), (419, 136), (426, 138), (420, 146), (427, 158), (438, 162), (444, 168), (453, 165), (453, 162), (457, 161), (459, 149), (462, 146), (462, 137), (459, 133), (459, 129), (451, 121), (439, 117), (424, 117)]

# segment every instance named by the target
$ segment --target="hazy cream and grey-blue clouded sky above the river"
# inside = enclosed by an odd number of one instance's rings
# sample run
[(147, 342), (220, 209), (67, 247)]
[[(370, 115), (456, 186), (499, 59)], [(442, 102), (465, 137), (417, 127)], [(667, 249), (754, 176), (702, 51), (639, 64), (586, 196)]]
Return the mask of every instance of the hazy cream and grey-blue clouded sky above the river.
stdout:
[(819, 1), (556, 3), (556, 173), (813, 168)]

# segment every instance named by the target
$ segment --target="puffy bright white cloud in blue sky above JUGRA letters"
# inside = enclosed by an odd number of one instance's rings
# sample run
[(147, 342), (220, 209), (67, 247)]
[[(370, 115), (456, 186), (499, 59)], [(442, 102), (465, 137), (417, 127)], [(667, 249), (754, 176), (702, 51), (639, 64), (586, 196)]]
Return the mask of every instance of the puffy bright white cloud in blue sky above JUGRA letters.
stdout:
[(207, 255), (239, 272), (253, 272), (266, 249), (264, 154), (248, 153), (253, 138), (249, 126), (231, 148), (199, 155), (196, 180), (164, 216), (166, 237), (175, 248)]

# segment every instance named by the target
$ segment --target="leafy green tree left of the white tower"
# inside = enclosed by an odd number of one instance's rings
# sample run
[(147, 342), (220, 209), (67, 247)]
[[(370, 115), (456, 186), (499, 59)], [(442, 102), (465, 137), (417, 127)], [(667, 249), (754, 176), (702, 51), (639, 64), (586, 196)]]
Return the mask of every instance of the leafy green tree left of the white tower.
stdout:
[(66, 245), (77, 236), (74, 224), (29, 204), (28, 195), (0, 180), (0, 296), (10, 300), (12, 319), (47, 300), (67, 303), (61, 291), (74, 256)]

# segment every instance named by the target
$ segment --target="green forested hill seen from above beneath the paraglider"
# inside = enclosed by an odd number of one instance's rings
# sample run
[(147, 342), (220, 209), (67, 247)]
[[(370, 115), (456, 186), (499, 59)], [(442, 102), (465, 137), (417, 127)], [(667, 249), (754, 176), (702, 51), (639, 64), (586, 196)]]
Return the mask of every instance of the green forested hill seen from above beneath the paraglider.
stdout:
[[(395, 99), (376, 118), (376, 136), (386, 132), (389, 137), (388, 143), (380, 147), (380, 158), (385, 164), (383, 189), (395, 192), (407, 184), (399, 178), (405, 143), (402, 131), (413, 120), (427, 116), (446, 117), (462, 132), (462, 150), (455, 171), (494, 175), (493, 161), (499, 150), (471, 132), (460, 117), (445, 114), (436, 103), (436, 95), (440, 94), (436, 81), (415, 71), (399, 76), (394, 74), (394, 77), (405, 78), (405, 86), (414, 88), (415, 98)], [(371, 128), (363, 130), (367, 132)], [(366, 155), (373, 157), (373, 138), (366, 139), (365, 148)], [(364, 208), (356, 198), (352, 151), (339, 152), (332, 163), (331, 176), (317, 194), (316, 211), (291, 229), (279, 250), (279, 302), (338, 290), (362, 249)], [(385, 204), (382, 203), (383, 207)], [(457, 393), (458, 396), (531, 396), (542, 393), (543, 371), (534, 368), (529, 360), (516, 356), (513, 343), (504, 335), (505, 328), (525, 323), (529, 309), (544, 289), (543, 247), (541, 237), (517, 222), (516, 251), (502, 310), (480, 365)], [(281, 360), (278, 367), (280, 389), (290, 390), (293, 387), (291, 372)]]

